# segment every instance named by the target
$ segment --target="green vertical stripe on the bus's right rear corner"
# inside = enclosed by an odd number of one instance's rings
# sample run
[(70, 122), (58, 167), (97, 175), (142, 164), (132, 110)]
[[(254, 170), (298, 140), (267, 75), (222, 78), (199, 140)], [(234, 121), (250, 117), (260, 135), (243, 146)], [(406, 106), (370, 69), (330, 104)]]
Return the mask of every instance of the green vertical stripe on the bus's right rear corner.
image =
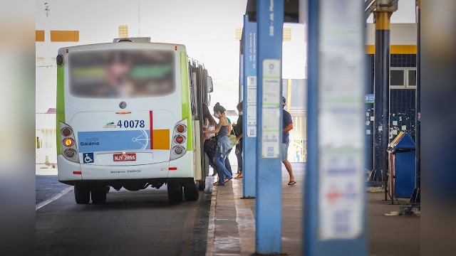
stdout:
[(192, 110), (188, 81), (187, 53), (180, 53), (180, 90), (182, 94), (182, 119), (187, 118), (187, 151), (193, 150)]

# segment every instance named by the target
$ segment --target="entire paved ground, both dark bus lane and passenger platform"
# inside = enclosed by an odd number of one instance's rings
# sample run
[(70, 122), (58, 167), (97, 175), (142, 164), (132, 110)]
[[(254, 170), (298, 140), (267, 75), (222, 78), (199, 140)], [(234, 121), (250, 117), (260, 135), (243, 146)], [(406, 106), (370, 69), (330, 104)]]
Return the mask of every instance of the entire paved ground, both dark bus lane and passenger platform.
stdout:
[[(282, 252), (302, 255), (304, 164), (297, 183), (282, 170)], [(235, 166), (233, 165), (235, 168)], [(67, 188), (56, 176), (36, 176), (36, 203)], [(73, 191), (36, 211), (36, 255), (252, 255), (255, 200), (242, 198), (242, 180), (171, 204), (166, 187), (108, 193), (105, 205), (76, 205)], [(369, 255), (420, 255), (420, 218), (368, 193)]]

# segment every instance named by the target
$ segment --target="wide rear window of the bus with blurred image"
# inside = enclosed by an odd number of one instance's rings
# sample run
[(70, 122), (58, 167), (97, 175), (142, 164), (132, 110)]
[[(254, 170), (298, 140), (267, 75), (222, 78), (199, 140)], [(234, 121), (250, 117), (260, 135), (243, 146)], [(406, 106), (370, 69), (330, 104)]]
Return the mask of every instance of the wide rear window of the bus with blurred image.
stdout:
[(171, 50), (97, 50), (70, 53), (70, 93), (84, 98), (135, 98), (175, 90)]

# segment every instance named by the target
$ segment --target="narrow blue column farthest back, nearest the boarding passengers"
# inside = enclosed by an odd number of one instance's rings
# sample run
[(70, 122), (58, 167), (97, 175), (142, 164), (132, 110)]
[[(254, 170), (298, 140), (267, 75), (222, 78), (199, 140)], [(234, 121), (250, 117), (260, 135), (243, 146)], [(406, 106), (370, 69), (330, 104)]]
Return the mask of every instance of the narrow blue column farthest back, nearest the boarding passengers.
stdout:
[[(257, 195), (257, 165), (252, 159), (257, 159), (257, 23), (249, 22), (249, 16), (244, 15), (244, 102), (242, 122), (242, 192), (244, 197)], [(254, 79), (252, 81), (252, 79)], [(250, 91), (250, 92), (249, 92)], [(253, 92), (253, 93), (252, 93)]]

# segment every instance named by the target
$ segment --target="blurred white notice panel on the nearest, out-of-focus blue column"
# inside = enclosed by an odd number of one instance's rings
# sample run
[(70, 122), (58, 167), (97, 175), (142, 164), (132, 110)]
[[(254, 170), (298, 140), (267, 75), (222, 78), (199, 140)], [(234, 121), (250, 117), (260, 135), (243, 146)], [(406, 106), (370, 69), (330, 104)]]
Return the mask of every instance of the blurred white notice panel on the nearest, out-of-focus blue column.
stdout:
[[(318, 41), (318, 240), (358, 239), (365, 220), (365, 60), (362, 13), (321, 0)], [(361, 8), (345, 1), (344, 8)], [(334, 18), (334, 17), (338, 18)], [(334, 33), (337, 31), (337, 33)], [(309, 60), (313, 61), (313, 60)], [(323, 72), (331, 70), (331, 75)], [(336, 81), (336, 85), (334, 83)], [(371, 117), (371, 122), (374, 117)], [(363, 126), (364, 125), (364, 126)], [(345, 241), (344, 241), (345, 242)]]

